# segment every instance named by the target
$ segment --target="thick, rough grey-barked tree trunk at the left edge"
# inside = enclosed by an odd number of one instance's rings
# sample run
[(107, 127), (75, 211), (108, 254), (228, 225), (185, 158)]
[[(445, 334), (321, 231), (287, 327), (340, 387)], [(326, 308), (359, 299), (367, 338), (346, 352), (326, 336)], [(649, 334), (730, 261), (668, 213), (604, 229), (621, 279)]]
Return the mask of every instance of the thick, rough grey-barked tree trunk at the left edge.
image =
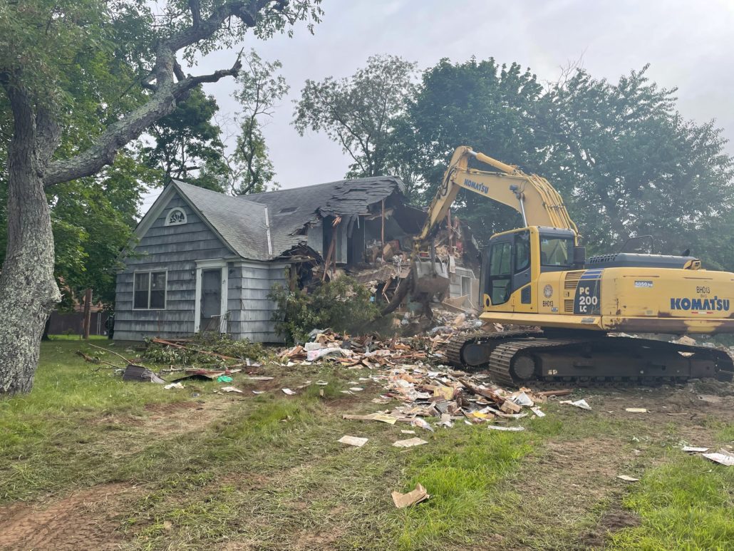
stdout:
[[(15, 119), (8, 150), (7, 253), (0, 273), (0, 395), (29, 392), (43, 326), (61, 295), (54, 235), (40, 166), (53, 151), (49, 121), (38, 121), (22, 90), (10, 94)], [(37, 122), (41, 122), (40, 126)]]

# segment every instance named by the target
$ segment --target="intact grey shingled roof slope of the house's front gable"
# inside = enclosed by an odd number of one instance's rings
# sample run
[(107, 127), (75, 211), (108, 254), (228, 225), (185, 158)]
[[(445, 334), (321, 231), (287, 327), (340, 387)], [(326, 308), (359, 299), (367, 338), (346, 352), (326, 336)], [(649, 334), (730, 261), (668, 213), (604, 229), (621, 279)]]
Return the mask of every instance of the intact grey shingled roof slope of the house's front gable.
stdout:
[(239, 256), (251, 260), (272, 258), (264, 205), (241, 201), (182, 181), (174, 181), (173, 184)]

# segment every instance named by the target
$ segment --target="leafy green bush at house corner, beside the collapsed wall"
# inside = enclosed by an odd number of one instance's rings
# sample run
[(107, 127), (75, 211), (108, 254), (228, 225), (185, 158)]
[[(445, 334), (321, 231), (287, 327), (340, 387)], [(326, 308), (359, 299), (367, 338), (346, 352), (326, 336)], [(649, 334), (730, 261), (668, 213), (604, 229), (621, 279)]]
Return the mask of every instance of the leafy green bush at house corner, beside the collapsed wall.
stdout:
[(310, 293), (276, 285), (268, 297), (277, 303), (275, 331), (288, 342), (305, 342), (313, 329), (364, 334), (380, 317), (369, 289), (349, 277), (322, 284)]

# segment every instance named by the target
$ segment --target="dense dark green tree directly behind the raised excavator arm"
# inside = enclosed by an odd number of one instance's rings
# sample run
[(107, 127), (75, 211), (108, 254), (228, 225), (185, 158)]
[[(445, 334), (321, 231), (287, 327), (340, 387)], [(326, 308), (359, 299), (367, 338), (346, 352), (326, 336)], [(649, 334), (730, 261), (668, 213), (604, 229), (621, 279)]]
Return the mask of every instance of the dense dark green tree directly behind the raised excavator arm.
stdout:
[[(462, 63), (443, 59), (426, 69), (396, 122), (401, 164), (418, 173), (414, 201), (429, 203), (459, 145), (537, 170), (544, 145), (534, 132), (541, 95), (536, 76), (517, 63), (498, 65), (492, 58), (472, 57)], [(513, 209), (468, 192), (459, 195), (454, 209), (484, 241), (521, 222)]]

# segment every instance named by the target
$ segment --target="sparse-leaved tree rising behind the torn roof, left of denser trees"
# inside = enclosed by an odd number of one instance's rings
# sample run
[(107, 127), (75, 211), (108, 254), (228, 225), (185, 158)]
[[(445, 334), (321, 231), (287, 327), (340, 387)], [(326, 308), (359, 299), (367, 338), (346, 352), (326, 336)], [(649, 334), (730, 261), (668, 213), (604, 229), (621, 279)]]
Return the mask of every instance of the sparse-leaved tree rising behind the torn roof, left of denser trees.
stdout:
[(354, 163), (347, 177), (382, 176), (396, 147), (394, 121), (415, 88), (415, 63), (396, 56), (372, 56), (349, 79), (307, 80), (296, 101), (293, 124), (302, 136), (324, 132)]

